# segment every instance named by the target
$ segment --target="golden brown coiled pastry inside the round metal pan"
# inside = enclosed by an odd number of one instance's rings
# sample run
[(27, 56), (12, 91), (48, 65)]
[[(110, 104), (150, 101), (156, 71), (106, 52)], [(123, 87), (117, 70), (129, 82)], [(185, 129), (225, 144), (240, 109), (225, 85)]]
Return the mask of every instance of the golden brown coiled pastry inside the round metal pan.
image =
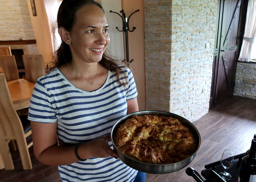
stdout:
[(165, 116), (133, 116), (118, 128), (113, 141), (123, 154), (151, 164), (178, 162), (197, 149), (191, 130)]

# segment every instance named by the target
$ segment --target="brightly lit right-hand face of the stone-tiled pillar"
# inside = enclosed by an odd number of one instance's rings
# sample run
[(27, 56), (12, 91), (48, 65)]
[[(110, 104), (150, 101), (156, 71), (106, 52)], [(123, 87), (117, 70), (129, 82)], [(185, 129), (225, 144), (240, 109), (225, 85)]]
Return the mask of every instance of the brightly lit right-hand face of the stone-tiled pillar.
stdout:
[(172, 1), (170, 110), (195, 121), (209, 111), (218, 1)]

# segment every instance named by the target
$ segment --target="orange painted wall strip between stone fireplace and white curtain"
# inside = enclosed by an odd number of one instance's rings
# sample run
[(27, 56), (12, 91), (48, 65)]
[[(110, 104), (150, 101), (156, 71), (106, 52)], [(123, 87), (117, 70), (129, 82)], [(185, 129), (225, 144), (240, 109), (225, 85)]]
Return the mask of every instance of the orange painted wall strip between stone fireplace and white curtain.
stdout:
[(31, 2), (30, 0), (27, 0), (32, 27), (37, 41), (38, 54), (43, 54), (44, 62), (50, 62), (52, 61), (53, 47), (47, 14), (45, 12), (43, 0), (34, 2), (37, 16), (33, 16)]

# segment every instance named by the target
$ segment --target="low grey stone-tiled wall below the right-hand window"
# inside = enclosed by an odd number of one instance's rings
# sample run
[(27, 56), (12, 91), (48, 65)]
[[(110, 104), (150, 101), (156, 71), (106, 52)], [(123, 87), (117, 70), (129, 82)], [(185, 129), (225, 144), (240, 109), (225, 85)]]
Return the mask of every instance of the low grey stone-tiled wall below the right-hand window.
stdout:
[(256, 99), (256, 64), (237, 63), (234, 95)]

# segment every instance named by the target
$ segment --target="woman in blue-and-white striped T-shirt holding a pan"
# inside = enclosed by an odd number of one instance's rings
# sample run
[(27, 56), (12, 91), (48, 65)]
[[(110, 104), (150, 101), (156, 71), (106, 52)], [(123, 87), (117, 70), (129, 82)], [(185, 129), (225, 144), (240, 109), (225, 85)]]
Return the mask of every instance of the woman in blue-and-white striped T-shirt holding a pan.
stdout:
[(109, 141), (112, 125), (138, 104), (132, 72), (105, 53), (110, 39), (103, 7), (63, 0), (57, 22), (62, 43), (55, 66), (38, 79), (29, 107), (36, 158), (58, 165), (62, 181), (145, 181)]

